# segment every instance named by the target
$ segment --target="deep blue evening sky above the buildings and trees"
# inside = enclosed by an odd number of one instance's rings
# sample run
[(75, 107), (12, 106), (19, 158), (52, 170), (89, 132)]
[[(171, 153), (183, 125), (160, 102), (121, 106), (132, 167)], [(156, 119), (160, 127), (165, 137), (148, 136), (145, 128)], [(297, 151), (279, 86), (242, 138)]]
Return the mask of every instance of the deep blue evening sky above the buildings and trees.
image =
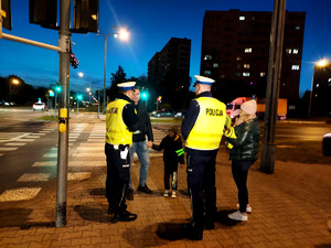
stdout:
[[(73, 2), (73, 1), (72, 1)], [(73, 6), (73, 4), (72, 4)], [(72, 7), (73, 8), (73, 7)], [(171, 37), (191, 39), (190, 76), (200, 74), (203, 17), (206, 10), (273, 11), (274, 0), (99, 0), (99, 32), (126, 28), (130, 39), (108, 37), (107, 87), (118, 65), (127, 77), (147, 76), (148, 62)], [(311, 87), (314, 63), (331, 60), (330, 0), (287, 0), (288, 11), (306, 11), (300, 95)], [(57, 45), (58, 33), (29, 23), (29, 1), (11, 0), (12, 31), (4, 33)], [(73, 18), (73, 14), (72, 14)], [(71, 67), (71, 88), (77, 93), (102, 89), (104, 85), (103, 36), (72, 34), (73, 53), (79, 67)], [(50, 87), (58, 80), (58, 53), (0, 40), (0, 76), (14, 74), (26, 84)], [(84, 77), (78, 77), (78, 73)]]

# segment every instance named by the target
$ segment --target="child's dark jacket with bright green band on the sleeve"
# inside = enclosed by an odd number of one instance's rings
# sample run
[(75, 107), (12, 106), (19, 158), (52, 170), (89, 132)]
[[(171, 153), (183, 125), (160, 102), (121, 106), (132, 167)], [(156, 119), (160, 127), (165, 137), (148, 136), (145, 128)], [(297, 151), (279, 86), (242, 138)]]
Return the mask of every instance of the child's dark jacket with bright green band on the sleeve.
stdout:
[(152, 149), (157, 150), (157, 151), (163, 151), (163, 161), (166, 163), (175, 163), (178, 164), (179, 162), (181, 164), (184, 164), (184, 154), (181, 154), (180, 157), (178, 157), (177, 152), (178, 150), (182, 149), (183, 144), (182, 144), (182, 139), (179, 134), (175, 134), (174, 138), (171, 138), (169, 134), (166, 136), (161, 143), (159, 145), (153, 144)]

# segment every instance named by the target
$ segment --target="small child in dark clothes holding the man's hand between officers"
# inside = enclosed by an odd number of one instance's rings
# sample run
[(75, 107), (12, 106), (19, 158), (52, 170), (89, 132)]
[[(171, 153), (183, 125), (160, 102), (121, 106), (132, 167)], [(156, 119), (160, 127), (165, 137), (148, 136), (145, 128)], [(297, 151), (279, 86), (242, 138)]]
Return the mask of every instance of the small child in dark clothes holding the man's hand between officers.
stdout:
[(157, 151), (163, 151), (164, 161), (164, 193), (163, 196), (169, 196), (170, 184), (169, 179), (171, 179), (172, 193), (171, 197), (177, 197), (177, 185), (178, 185), (178, 163), (184, 164), (184, 154), (179, 152), (183, 148), (182, 139), (178, 133), (177, 127), (171, 127), (169, 129), (169, 134), (166, 136), (159, 145), (153, 144), (152, 149)]

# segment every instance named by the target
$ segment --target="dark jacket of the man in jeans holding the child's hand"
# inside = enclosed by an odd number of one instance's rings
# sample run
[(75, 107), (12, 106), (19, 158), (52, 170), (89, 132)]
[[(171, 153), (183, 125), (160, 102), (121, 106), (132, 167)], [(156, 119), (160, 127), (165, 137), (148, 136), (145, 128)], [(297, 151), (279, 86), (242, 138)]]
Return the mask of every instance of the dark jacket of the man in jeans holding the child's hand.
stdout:
[(143, 104), (140, 103), (138, 103), (138, 105), (135, 105), (135, 108), (139, 120), (139, 127), (138, 127), (138, 131), (134, 132), (132, 141), (134, 142), (145, 141), (146, 136), (148, 141), (154, 141), (147, 108), (145, 107)]

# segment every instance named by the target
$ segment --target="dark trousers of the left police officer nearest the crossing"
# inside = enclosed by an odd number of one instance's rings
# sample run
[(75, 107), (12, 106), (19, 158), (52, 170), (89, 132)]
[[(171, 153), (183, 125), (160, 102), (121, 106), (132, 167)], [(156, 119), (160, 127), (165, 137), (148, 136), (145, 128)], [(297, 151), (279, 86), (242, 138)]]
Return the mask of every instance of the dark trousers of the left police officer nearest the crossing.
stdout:
[[(109, 208), (115, 214), (126, 211), (125, 186), (130, 177), (130, 157), (129, 152), (125, 159), (120, 158), (120, 151), (125, 149), (106, 143), (105, 153), (107, 157), (107, 179), (106, 179), (106, 197)], [(127, 145), (128, 147), (128, 145)]]

